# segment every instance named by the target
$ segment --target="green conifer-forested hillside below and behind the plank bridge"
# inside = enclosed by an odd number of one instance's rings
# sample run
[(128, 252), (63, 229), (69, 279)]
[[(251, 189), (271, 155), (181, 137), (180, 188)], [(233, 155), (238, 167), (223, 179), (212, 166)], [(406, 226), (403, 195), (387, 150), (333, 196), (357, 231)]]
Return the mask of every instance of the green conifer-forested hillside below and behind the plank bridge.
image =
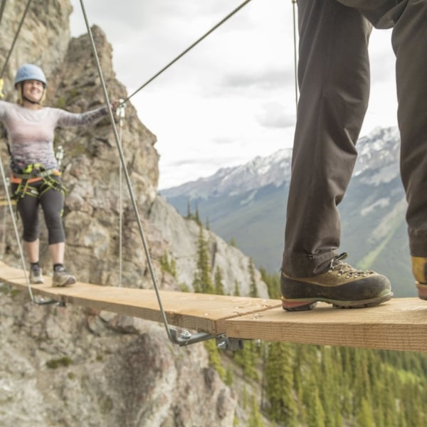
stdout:
[[(212, 273), (200, 221), (199, 226), (194, 283)], [(270, 297), (280, 297), (278, 275), (261, 273)], [(223, 293), (221, 272), (214, 282), (206, 280), (205, 288), (195, 287), (198, 292)], [(256, 288), (250, 289), (256, 297)], [(218, 350), (213, 342), (205, 347), (211, 366), (247, 408), (247, 426), (427, 425), (427, 354), (284, 342), (245, 342), (236, 352)]]

